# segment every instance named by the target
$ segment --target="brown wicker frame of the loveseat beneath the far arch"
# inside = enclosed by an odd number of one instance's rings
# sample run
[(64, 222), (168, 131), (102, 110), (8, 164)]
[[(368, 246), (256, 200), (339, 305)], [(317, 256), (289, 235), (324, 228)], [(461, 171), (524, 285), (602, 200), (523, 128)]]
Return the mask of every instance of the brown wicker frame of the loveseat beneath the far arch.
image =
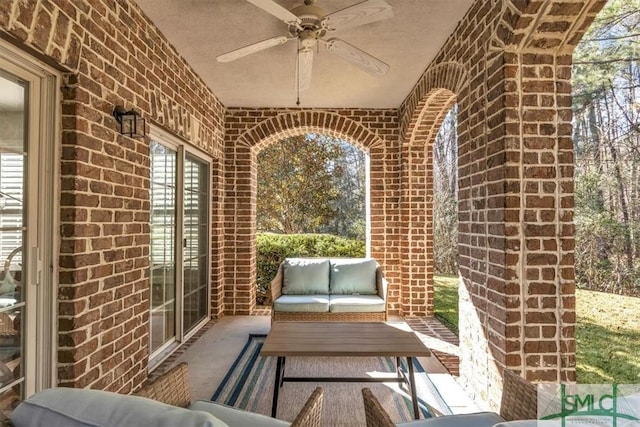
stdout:
[[(271, 281), (271, 304), (282, 295), (282, 279), (284, 277), (283, 263), (278, 267), (276, 277)], [(307, 313), (307, 312), (282, 312), (271, 309), (271, 322), (385, 322), (388, 312), (389, 282), (384, 278), (380, 267), (376, 270), (376, 288), (378, 296), (384, 300), (384, 311), (381, 312), (353, 312), (353, 313)]]

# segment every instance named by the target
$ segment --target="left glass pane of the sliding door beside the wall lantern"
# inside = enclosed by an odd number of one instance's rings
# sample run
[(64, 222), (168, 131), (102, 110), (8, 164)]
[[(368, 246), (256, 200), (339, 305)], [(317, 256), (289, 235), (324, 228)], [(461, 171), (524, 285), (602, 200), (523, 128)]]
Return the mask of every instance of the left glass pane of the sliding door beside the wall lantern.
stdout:
[(177, 152), (151, 142), (151, 351), (176, 336)]

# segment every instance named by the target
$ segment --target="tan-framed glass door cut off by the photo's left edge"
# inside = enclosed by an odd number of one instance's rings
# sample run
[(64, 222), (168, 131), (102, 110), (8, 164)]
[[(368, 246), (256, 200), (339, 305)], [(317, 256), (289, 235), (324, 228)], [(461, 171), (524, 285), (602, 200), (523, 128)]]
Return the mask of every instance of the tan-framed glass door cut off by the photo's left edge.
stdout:
[(0, 412), (50, 387), (55, 78), (0, 43)]

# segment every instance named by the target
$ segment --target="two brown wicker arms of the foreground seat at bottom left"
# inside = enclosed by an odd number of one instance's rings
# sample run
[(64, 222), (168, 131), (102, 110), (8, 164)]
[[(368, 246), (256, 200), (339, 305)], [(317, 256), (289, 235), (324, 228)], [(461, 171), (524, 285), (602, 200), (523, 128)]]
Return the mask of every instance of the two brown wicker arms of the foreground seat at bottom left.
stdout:
[[(189, 366), (180, 363), (154, 381), (142, 387), (136, 396), (154, 399), (168, 405), (186, 408), (191, 405)], [(322, 388), (318, 387), (302, 407), (291, 427), (319, 427), (322, 414)], [(241, 411), (238, 409), (238, 411)]]

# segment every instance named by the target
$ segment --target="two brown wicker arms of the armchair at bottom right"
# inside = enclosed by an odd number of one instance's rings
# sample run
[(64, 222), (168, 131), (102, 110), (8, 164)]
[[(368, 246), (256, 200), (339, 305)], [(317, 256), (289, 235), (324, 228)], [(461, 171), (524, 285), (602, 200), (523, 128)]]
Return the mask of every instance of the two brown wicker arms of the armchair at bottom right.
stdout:
[[(504, 370), (502, 380), (503, 388), (500, 416), (506, 421), (535, 420), (538, 416), (538, 393), (536, 386), (509, 369)], [(369, 388), (362, 389), (362, 397), (364, 399), (367, 427), (396, 426)], [(445, 415), (445, 417), (446, 416), (447, 415)], [(455, 417), (455, 415), (448, 416)], [(412, 425), (416, 427), (418, 425), (428, 427), (430, 420), (436, 421), (437, 419), (438, 418), (423, 420), (420, 424), (414, 421)]]

